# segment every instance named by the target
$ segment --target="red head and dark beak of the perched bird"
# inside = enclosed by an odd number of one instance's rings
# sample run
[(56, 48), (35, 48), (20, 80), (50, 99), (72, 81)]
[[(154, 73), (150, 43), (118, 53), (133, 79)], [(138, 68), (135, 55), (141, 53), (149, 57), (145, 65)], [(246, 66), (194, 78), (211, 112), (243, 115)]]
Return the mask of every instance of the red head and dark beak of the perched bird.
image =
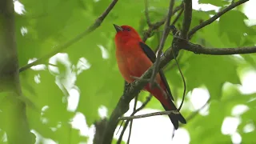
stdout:
[(116, 42), (128, 42), (129, 40), (141, 41), (138, 32), (131, 26), (117, 26), (114, 24), (114, 28), (117, 31), (115, 35)]

